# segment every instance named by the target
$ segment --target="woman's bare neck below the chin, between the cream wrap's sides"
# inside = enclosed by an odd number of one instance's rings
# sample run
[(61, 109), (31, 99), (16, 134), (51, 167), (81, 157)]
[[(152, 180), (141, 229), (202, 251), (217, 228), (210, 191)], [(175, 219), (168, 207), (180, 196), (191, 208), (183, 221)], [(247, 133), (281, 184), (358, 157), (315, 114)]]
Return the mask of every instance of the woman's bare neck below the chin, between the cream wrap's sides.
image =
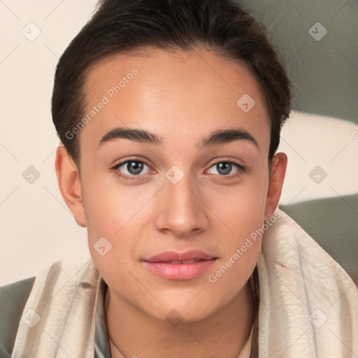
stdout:
[(143, 313), (107, 289), (105, 315), (112, 358), (237, 358), (250, 335), (254, 304), (249, 282), (199, 322), (171, 325)]

